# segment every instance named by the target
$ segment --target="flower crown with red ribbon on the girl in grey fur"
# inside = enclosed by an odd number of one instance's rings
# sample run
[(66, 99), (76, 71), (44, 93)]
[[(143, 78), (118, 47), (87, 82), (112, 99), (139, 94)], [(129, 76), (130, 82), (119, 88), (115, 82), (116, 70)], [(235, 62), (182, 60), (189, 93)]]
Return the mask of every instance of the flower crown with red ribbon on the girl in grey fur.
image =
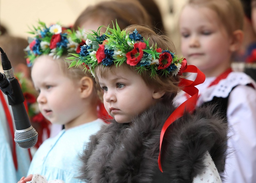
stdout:
[[(101, 26), (102, 27), (102, 26)], [(120, 30), (118, 24), (113, 29), (107, 27), (105, 34), (100, 36), (100, 29), (87, 35), (86, 44), (81, 46), (79, 54), (71, 54), (68, 57), (72, 63), (70, 67), (83, 64), (84, 67), (94, 72), (97, 65), (121, 65), (126, 62), (135, 66), (141, 74), (145, 70), (151, 71), (151, 77), (155, 75), (181, 75), (186, 69), (185, 58), (178, 58), (169, 50), (157, 48), (157, 45), (149, 45), (135, 29), (133, 33)], [(76, 58), (78, 57), (78, 58)]]

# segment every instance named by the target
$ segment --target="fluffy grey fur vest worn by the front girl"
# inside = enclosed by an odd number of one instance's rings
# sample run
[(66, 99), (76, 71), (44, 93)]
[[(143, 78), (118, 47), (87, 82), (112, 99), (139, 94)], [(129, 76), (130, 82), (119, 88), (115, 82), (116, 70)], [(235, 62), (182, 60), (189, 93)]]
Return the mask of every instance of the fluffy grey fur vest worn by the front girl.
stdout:
[(159, 102), (130, 124), (113, 121), (91, 136), (82, 154), (81, 178), (87, 183), (190, 183), (204, 170), (209, 151), (219, 172), (223, 170), (226, 123), (207, 108), (185, 114), (168, 128), (158, 169), (162, 126), (174, 111), (172, 103)]

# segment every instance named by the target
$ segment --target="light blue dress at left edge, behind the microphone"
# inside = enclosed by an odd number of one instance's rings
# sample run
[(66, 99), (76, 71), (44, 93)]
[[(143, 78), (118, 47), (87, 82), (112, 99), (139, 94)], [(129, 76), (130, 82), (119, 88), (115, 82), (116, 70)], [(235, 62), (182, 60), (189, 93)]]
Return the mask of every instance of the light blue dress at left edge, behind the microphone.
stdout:
[[(2, 92), (2, 91), (0, 91)], [(8, 105), (7, 96), (3, 94)], [(12, 115), (11, 106), (8, 105)], [(15, 126), (13, 122), (13, 131)], [(30, 165), (28, 149), (23, 149), (16, 144), (16, 155), (18, 170), (16, 171), (12, 157), (12, 137), (2, 103), (0, 101), (0, 182), (17, 183), (19, 179), (26, 175)]]

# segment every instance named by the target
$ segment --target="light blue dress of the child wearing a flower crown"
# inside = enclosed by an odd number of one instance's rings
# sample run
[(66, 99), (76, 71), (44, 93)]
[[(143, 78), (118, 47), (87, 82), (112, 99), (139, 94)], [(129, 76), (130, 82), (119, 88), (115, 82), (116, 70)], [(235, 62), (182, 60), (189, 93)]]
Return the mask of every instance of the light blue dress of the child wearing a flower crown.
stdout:
[(38, 173), (48, 181), (60, 179), (66, 183), (79, 182), (75, 178), (82, 164), (79, 153), (83, 151), (90, 135), (100, 130), (102, 125), (106, 123), (97, 119), (69, 130), (64, 129), (55, 137), (45, 140), (32, 159), (28, 175)]

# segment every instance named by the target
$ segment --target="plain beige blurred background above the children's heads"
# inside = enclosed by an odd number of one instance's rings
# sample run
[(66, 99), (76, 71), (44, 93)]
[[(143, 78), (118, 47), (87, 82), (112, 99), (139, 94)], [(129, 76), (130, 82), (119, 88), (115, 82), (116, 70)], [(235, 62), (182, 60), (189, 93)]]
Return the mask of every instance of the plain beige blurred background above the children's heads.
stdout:
[[(78, 15), (88, 6), (102, 0), (0, 0), (0, 24), (10, 34), (27, 38), (29, 27), (44, 21), (47, 25), (60, 22), (72, 25)], [(176, 45), (179, 54), (177, 17), (186, 0), (155, 0), (161, 10), (163, 24)]]

